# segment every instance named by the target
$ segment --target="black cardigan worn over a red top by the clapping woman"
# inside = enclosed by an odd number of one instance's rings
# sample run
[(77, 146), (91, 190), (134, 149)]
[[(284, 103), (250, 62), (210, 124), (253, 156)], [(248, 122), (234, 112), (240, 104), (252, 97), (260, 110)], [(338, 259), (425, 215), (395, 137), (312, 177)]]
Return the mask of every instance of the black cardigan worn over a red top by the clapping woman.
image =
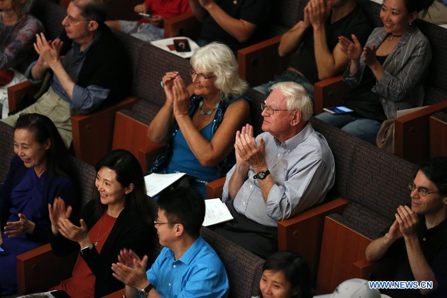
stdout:
[[(148, 212), (152, 214), (151, 210)], [(94, 215), (94, 199), (84, 206), (74, 224), (79, 226), (80, 218), (84, 219), (89, 230), (99, 220), (99, 217)], [(96, 279), (94, 297), (103, 297), (124, 288), (124, 284), (112, 276), (111, 270), (112, 263), (118, 262), (118, 254), (121, 249), (132, 249), (138, 256), (148, 255), (151, 259), (154, 246), (157, 244), (154, 242), (157, 241), (156, 239), (155, 229), (152, 225), (144, 222), (132, 210), (124, 208), (116, 219), (101, 253), (99, 254), (96, 247), (93, 247), (89, 253), (80, 254)], [(58, 256), (80, 250), (79, 243), (68, 240), (60, 234), (54, 236), (51, 233), (50, 243), (54, 254)]]

